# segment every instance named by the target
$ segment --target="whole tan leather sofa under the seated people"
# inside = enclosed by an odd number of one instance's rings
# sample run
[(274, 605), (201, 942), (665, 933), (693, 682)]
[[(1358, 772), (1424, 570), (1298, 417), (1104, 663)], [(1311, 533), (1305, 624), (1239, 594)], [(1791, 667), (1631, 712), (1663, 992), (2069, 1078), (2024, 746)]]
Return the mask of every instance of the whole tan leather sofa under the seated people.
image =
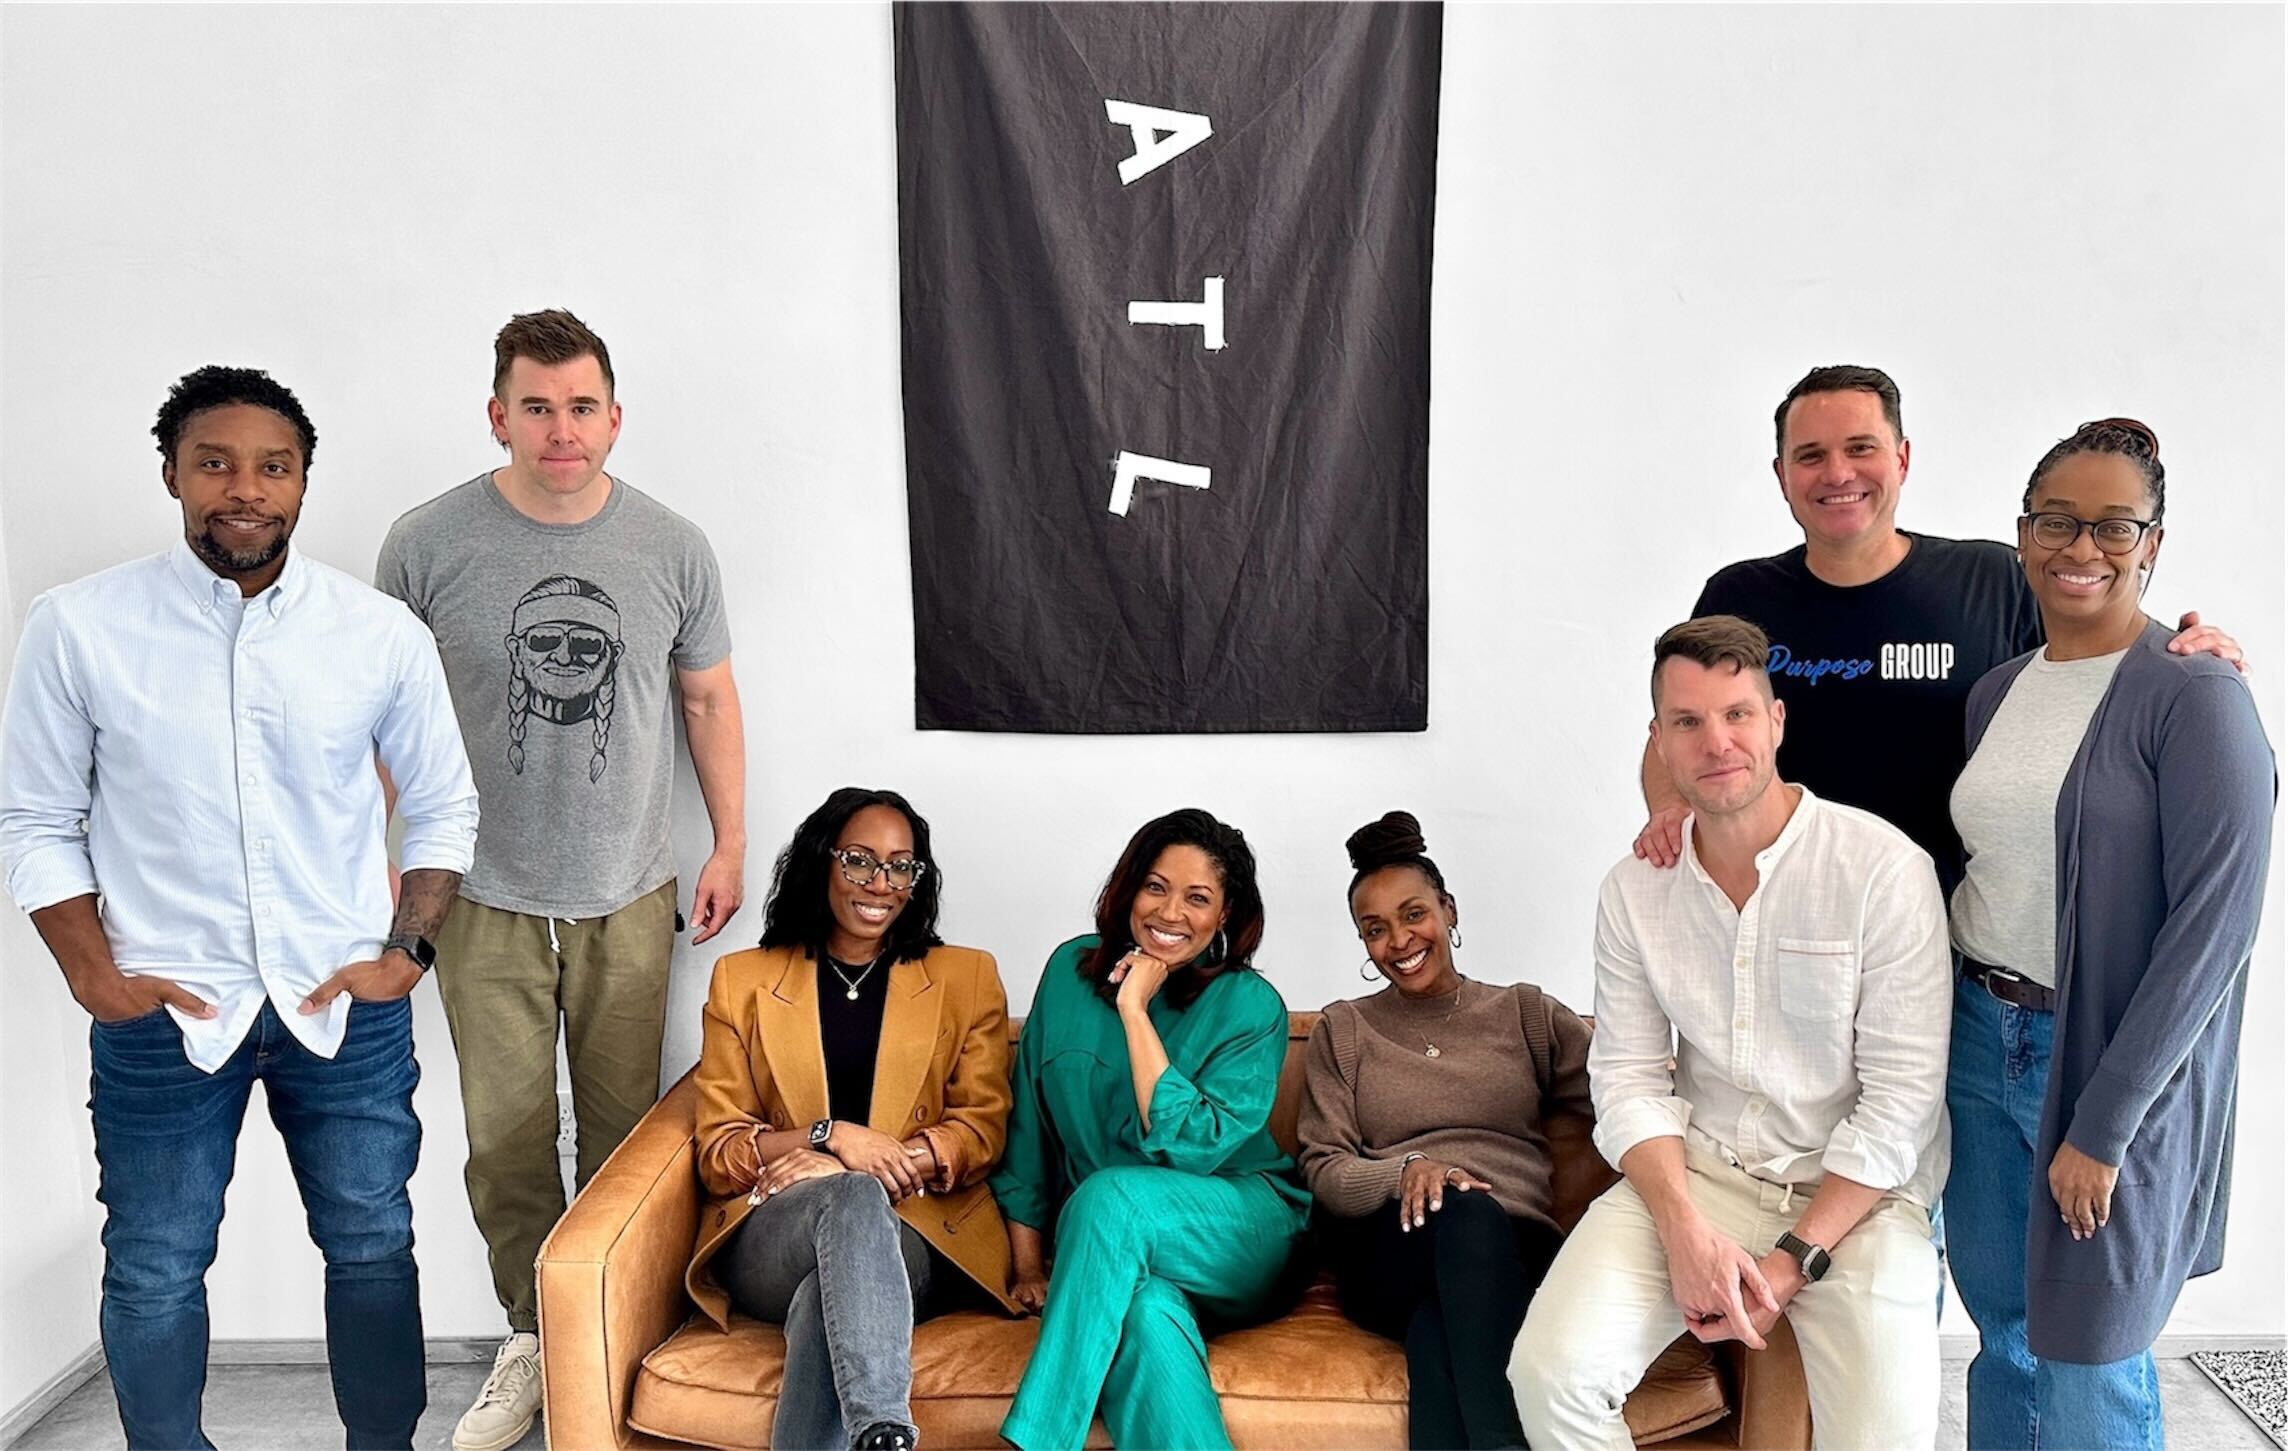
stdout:
[[(1302, 1108), (1302, 1048), (1318, 1014), (1288, 1016), (1272, 1131), (1290, 1151)], [(718, 1332), (684, 1295), (698, 1234), (691, 1078), (684, 1076), (540, 1245), (540, 1353), (547, 1433), (556, 1451), (606, 1446), (771, 1444), (785, 1341), (773, 1325), (734, 1318)], [(1570, 1229), (1615, 1179), (1590, 1147), (1586, 1119), (1549, 1124), (1558, 1215)], [(913, 1332), (913, 1419), (922, 1446), (1002, 1446), (1036, 1321), (961, 1311)], [(1325, 1275), (1270, 1325), (1208, 1341), (1208, 1373), (1224, 1424), (1242, 1451), (1304, 1446), (1405, 1446), (1405, 1353), (1336, 1309)], [(1629, 1394), (1640, 1446), (1755, 1446), (1812, 1442), (1810, 1401), (1794, 1334), (1782, 1321), (1771, 1348), (1709, 1355), (1684, 1337)], [(1103, 1421), (1089, 1446), (1110, 1446)]]

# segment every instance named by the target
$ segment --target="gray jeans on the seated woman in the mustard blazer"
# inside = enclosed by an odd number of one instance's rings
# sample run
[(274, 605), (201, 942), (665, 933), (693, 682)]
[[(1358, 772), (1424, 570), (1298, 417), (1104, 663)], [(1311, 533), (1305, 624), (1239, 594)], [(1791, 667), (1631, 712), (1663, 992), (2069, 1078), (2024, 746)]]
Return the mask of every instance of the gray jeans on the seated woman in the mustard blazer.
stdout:
[(929, 1295), (929, 1240), (867, 1174), (803, 1179), (764, 1199), (716, 1261), (741, 1314), (787, 1330), (773, 1451), (847, 1451), (865, 1430), (913, 1426), (913, 1321)]

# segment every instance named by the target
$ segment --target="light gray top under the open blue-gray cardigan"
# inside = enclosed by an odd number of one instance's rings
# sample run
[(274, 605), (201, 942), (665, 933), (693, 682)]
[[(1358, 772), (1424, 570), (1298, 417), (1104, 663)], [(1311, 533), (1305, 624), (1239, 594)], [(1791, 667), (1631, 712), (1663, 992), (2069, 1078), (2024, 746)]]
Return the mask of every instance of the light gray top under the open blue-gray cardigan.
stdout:
[(2123, 655), (2036, 652), (1954, 780), (1970, 865), (1947, 915), (1963, 957), (2057, 986), (2057, 787)]

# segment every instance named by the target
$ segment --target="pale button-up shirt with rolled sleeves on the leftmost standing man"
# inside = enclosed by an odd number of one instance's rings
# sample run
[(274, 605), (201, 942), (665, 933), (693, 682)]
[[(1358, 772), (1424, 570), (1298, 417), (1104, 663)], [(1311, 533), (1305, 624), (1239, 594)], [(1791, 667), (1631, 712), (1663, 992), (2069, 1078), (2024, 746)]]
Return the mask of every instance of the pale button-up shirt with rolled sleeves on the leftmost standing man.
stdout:
[(213, 1073), (268, 998), (334, 1057), (343, 993), (297, 1002), (389, 936), (375, 755), (398, 787), (405, 870), (464, 872), (476, 785), (437, 645), (400, 602), (286, 552), (240, 606), (176, 542), (32, 602), (0, 719), (0, 867), (23, 911), (98, 895), (121, 973), (215, 1005), (176, 1009)]

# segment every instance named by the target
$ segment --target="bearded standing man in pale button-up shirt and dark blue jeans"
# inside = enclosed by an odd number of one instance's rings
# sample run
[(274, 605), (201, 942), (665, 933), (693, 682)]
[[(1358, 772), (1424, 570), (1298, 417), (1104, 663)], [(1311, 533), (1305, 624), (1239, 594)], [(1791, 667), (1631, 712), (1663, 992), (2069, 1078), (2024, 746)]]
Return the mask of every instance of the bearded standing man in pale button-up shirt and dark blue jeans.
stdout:
[[(325, 1254), (348, 1444), (410, 1446), (405, 996), (476, 847), (469, 760), (421, 623), (288, 549), (302, 403), (208, 366), (153, 433), (183, 538), (32, 602), (0, 728), (0, 865), (94, 1018), (119, 1419), (128, 1446), (208, 1446), (206, 1268), (261, 1080)], [(375, 762), (405, 819), (396, 909)]]

